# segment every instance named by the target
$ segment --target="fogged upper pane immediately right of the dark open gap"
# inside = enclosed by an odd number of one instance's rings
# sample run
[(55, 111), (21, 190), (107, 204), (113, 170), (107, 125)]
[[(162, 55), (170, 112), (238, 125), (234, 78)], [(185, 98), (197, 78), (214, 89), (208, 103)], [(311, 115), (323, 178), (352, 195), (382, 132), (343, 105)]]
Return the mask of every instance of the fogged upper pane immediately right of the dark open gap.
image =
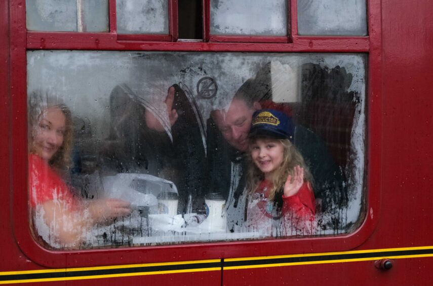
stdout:
[(211, 34), (287, 35), (286, 0), (212, 0)]

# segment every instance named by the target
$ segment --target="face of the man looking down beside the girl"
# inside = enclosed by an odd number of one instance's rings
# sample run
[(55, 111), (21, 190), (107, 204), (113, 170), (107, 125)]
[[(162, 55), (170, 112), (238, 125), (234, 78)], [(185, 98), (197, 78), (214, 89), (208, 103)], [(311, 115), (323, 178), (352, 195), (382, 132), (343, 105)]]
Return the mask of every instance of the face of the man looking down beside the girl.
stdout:
[(216, 111), (214, 120), (224, 138), (240, 151), (248, 150), (248, 132), (251, 128), (253, 113), (256, 109), (249, 107), (245, 101), (233, 99), (227, 112)]

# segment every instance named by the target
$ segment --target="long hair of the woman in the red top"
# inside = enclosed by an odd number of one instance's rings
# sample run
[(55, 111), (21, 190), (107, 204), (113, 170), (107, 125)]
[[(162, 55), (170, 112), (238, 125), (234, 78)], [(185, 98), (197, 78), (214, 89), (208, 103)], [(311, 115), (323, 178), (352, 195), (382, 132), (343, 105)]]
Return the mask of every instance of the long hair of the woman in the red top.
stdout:
[(34, 91), (28, 95), (28, 149), (34, 153), (33, 137), (35, 127), (38, 126), (45, 111), (51, 108), (59, 109), (65, 116), (65, 131), (63, 144), (49, 160), (49, 165), (55, 169), (66, 169), (71, 165), (71, 152), (73, 148), (73, 123), (69, 108), (59, 102), (57, 98), (48, 93)]

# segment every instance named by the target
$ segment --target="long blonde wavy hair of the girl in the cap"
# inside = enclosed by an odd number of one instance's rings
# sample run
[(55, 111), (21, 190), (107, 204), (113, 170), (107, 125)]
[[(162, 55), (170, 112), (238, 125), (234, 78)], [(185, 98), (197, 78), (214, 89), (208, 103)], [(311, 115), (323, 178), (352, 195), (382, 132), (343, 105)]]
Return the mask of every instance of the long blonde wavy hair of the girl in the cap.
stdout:
[[(271, 201), (275, 201), (275, 195), (282, 195), (284, 184), (286, 183), (287, 176), (289, 174), (293, 175), (294, 167), (299, 165), (304, 168), (304, 182), (309, 182), (311, 185), (313, 184), (313, 178), (311, 173), (309, 172), (302, 155), (296, 149), (296, 147), (292, 144), (289, 139), (276, 139), (268, 136), (258, 136), (250, 138), (250, 145), (253, 144), (257, 139), (270, 139), (278, 141), (283, 145), (283, 163), (281, 167), (274, 171), (274, 175), (272, 176), (272, 189), (269, 191), (268, 199)], [(256, 166), (251, 158), (251, 152), (248, 156), (249, 158), (249, 168), (247, 173), (247, 190), (249, 195), (252, 195), (260, 182), (264, 179), (264, 174), (260, 169)], [(281, 193), (281, 194), (280, 194)]]

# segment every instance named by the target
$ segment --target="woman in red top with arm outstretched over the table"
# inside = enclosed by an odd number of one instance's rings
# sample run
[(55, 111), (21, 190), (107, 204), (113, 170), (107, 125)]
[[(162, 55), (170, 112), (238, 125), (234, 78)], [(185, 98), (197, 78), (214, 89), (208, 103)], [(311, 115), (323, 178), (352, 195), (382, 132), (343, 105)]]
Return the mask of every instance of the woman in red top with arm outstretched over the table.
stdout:
[[(72, 119), (64, 104), (29, 104), (29, 201), (33, 230), (54, 248), (76, 248), (91, 227), (130, 213), (118, 199), (80, 200), (60, 177), (70, 165)], [(32, 104), (31, 100), (37, 101)], [(46, 101), (46, 100), (45, 100)]]

